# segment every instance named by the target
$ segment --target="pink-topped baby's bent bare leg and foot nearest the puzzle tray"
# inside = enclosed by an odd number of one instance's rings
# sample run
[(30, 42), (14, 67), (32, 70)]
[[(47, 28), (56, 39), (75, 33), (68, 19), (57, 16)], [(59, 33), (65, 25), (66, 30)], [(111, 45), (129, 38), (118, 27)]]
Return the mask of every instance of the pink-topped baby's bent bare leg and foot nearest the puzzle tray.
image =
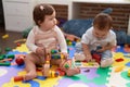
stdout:
[(62, 61), (61, 70), (65, 71), (67, 76), (73, 76), (80, 73), (80, 70), (74, 65), (72, 60)]

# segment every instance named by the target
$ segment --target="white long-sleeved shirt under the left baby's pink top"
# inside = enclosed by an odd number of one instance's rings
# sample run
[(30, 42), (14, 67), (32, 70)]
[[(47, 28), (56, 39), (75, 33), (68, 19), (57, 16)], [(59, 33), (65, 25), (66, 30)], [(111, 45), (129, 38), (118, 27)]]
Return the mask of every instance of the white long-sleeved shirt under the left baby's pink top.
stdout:
[[(35, 33), (34, 33), (34, 29), (35, 29)], [(57, 41), (60, 45), (61, 52), (67, 53), (67, 45), (66, 45), (66, 40), (64, 38), (62, 30), (57, 26), (55, 26), (53, 29), (57, 34)], [(42, 32), (42, 30), (40, 30), (40, 28), (38, 26), (34, 26), (34, 28), (30, 30), (30, 33), (27, 37), (27, 41), (26, 41), (26, 46), (28, 47), (28, 49), (32, 52), (36, 52), (36, 49), (38, 48), (38, 46), (35, 42), (35, 34), (37, 34), (37, 33), (47, 34), (48, 32)], [(48, 42), (51, 42), (51, 41), (48, 41)]]

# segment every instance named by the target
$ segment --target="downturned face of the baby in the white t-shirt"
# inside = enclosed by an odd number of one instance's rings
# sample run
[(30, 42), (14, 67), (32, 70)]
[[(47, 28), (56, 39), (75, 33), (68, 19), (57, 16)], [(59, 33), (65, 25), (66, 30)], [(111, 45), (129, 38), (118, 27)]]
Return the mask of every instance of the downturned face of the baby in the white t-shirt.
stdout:
[(104, 39), (108, 34), (108, 30), (104, 29), (104, 30), (100, 30), (98, 28), (93, 29), (93, 35), (99, 38), (99, 39)]

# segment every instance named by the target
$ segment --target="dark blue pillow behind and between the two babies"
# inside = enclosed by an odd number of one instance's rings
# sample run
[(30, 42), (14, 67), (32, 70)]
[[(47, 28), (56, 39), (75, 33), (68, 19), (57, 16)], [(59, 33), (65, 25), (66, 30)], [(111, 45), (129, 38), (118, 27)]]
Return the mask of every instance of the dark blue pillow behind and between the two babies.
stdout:
[(92, 18), (87, 20), (70, 20), (63, 25), (63, 32), (81, 37), (88, 28), (92, 26)]

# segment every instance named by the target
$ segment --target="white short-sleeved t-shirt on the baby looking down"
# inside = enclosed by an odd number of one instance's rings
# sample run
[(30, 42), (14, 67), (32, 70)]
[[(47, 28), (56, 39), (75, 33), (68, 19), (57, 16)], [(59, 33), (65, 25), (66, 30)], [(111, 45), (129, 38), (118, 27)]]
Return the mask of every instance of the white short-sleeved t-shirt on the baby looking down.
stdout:
[(113, 30), (109, 30), (106, 38), (104, 39), (98, 39), (92, 34), (93, 27), (89, 28), (81, 37), (81, 44), (88, 45), (90, 51), (96, 50), (96, 47), (103, 47), (107, 44), (110, 44), (113, 46), (116, 46), (116, 34)]

